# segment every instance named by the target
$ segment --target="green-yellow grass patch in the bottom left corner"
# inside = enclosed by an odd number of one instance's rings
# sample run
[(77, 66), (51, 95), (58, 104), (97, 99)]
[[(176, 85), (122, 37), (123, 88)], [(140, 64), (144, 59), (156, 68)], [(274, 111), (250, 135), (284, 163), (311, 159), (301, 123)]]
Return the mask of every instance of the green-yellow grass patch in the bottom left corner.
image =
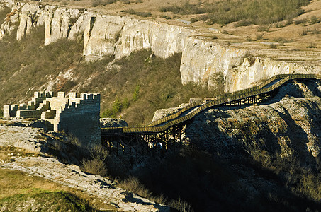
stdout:
[(4, 211), (117, 211), (102, 199), (18, 170), (0, 169), (0, 208)]

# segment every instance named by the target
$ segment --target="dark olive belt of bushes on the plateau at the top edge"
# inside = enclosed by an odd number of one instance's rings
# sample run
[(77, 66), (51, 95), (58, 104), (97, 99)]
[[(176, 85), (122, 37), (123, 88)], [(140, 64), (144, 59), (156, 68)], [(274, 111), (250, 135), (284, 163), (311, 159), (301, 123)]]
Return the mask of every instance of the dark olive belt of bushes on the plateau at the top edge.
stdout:
[[(179, 14), (202, 14), (197, 20), (212, 25), (218, 23), (238, 22), (237, 26), (252, 24), (270, 24), (281, 20), (291, 20), (302, 14), (301, 6), (309, 3), (309, 0), (250, 0), (250, 1), (217, 1), (213, 4), (190, 4), (185, 1), (182, 6), (163, 6), (162, 12)], [(314, 18), (314, 20), (316, 20)]]

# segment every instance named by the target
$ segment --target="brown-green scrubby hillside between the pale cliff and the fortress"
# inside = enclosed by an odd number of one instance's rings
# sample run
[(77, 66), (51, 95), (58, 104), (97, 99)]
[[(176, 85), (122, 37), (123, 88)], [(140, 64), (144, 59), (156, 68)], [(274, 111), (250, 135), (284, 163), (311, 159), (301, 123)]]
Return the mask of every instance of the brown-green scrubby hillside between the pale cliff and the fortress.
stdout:
[(103, 117), (141, 125), (149, 123), (159, 108), (212, 95), (198, 86), (181, 85), (180, 54), (161, 59), (142, 50), (118, 61), (104, 57), (86, 63), (82, 42), (59, 40), (45, 46), (44, 34), (40, 26), (21, 41), (16, 40), (16, 31), (0, 41), (1, 107), (27, 102), (38, 90), (101, 93)]

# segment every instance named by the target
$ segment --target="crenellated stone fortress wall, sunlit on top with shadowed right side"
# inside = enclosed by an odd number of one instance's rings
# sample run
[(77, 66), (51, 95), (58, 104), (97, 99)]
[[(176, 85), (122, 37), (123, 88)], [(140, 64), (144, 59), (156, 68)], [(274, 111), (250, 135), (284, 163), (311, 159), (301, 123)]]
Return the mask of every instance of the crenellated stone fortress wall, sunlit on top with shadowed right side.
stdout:
[(99, 122), (100, 94), (35, 92), (28, 104), (4, 105), (4, 118), (44, 119), (54, 131), (74, 134), (82, 146), (101, 142)]

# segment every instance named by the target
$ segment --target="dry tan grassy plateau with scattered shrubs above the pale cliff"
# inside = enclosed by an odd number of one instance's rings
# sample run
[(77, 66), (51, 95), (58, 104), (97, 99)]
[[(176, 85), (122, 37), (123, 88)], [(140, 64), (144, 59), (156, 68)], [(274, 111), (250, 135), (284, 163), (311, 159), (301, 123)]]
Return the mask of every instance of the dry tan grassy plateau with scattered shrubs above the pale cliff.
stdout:
[[(225, 42), (228, 45), (269, 49), (272, 51), (269, 52), (269, 57), (278, 55), (276, 48), (315, 52), (321, 47), (318, 37), (321, 28), (321, 1), (319, 0), (43, 1), (50, 4), (89, 8), (91, 11), (118, 16), (130, 15), (184, 25), (199, 30), (199, 35), (218, 37), (218, 42)], [(209, 30), (209, 26), (220, 33)], [(265, 42), (277, 44), (269, 46), (264, 44)], [(308, 54), (305, 55), (308, 59)], [(288, 56), (289, 59), (293, 57), (295, 53)]]

